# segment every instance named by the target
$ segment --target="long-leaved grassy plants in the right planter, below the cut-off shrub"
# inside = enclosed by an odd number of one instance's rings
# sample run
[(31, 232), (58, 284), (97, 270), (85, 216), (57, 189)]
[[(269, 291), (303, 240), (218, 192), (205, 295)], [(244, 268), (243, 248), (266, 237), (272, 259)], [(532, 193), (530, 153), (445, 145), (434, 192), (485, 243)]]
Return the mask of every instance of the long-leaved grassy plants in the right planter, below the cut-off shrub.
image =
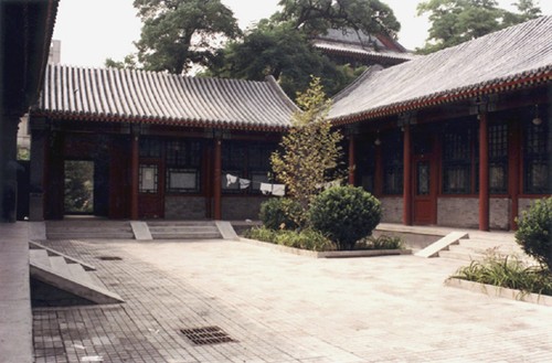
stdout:
[(516, 289), (524, 293), (552, 295), (550, 271), (527, 266), (511, 256), (490, 254), (482, 261), (473, 260), (468, 266), (460, 267), (452, 277)]

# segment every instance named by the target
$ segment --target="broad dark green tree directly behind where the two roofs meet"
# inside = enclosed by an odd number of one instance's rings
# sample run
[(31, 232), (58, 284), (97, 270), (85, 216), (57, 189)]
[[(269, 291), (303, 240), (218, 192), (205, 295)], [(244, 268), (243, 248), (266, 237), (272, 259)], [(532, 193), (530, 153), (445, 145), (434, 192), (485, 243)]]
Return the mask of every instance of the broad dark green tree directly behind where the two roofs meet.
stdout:
[(230, 42), (208, 74), (253, 81), (272, 75), (287, 95), (295, 98), (308, 88), (312, 74), (322, 78), (329, 94), (336, 94), (364, 70), (332, 63), (311, 45), (304, 32), (289, 23), (264, 20), (243, 40)]

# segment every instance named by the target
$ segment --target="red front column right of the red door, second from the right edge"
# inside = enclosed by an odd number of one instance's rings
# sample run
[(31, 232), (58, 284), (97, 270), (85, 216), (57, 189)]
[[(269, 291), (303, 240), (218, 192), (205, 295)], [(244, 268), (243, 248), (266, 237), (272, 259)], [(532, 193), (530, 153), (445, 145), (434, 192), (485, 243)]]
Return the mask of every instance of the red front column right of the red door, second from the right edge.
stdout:
[(489, 125), (479, 115), (479, 229), (489, 231)]

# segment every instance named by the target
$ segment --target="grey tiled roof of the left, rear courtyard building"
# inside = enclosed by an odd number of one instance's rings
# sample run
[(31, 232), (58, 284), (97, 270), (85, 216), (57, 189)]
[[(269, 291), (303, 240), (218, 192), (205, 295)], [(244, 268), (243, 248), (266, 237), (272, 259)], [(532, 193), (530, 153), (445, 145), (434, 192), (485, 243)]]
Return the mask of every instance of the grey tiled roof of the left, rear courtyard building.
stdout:
[(217, 128), (282, 129), (296, 105), (265, 82), (50, 65), (34, 115)]

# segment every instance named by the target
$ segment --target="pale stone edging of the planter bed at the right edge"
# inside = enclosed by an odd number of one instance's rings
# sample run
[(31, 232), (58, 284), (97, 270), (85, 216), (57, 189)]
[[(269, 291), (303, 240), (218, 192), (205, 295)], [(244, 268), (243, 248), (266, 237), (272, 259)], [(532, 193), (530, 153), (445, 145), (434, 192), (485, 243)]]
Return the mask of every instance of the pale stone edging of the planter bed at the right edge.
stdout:
[(482, 292), (488, 296), (493, 296), (498, 298), (526, 301), (537, 305), (543, 305), (546, 307), (552, 307), (552, 297), (548, 295), (527, 293), (520, 290), (513, 290), (493, 285), (468, 281), (460, 278), (448, 278), (445, 280), (445, 285), (474, 292)]

